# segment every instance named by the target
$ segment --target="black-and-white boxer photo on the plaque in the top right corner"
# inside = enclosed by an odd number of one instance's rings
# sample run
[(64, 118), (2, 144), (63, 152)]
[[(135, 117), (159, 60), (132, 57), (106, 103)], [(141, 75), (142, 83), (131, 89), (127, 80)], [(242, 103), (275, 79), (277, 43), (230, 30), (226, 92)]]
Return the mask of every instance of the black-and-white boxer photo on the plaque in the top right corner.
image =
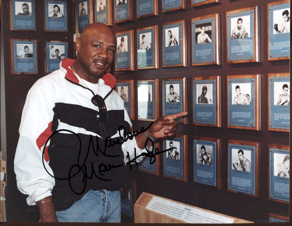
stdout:
[(290, 33), (290, 8), (273, 11), (273, 34)]

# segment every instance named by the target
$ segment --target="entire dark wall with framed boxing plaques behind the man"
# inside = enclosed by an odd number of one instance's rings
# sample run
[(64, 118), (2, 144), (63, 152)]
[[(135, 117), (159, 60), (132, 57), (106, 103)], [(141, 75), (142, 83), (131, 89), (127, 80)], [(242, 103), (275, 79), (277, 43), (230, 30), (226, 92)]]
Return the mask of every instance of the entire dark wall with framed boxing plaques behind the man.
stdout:
[(134, 129), (189, 113), (152, 148), (172, 151), (137, 166), (131, 200), (146, 191), (256, 223), (287, 220), (289, 0), (2, 0), (8, 221), (38, 221), (13, 171), (27, 91), (73, 58), (73, 36), (92, 22), (116, 34), (111, 72)]

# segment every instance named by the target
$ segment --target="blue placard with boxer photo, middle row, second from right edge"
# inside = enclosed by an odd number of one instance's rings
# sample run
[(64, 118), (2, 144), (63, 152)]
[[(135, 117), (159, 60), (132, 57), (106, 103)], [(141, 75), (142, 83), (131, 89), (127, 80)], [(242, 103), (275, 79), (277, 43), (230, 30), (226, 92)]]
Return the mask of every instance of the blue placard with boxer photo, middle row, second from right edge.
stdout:
[(228, 124), (255, 127), (255, 81), (253, 78), (228, 80)]

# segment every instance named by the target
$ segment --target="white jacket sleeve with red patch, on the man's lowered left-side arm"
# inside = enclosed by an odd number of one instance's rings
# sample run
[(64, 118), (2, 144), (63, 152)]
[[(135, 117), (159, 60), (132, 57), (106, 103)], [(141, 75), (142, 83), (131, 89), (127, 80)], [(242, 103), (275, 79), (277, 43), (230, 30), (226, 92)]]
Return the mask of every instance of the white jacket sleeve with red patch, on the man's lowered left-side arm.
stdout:
[(52, 104), (50, 90), (38, 80), (26, 97), (14, 159), (17, 186), (23, 194), (28, 195), (28, 205), (35, 205), (38, 200), (50, 196), (55, 186), (54, 174), (48, 164), (49, 143), (44, 148), (52, 134)]

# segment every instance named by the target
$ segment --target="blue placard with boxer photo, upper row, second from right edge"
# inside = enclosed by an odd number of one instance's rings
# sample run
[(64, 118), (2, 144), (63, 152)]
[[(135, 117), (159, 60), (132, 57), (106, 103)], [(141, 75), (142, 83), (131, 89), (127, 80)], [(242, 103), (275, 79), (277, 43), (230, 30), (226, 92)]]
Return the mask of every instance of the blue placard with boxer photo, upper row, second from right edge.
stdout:
[(227, 15), (228, 61), (254, 59), (255, 10)]

